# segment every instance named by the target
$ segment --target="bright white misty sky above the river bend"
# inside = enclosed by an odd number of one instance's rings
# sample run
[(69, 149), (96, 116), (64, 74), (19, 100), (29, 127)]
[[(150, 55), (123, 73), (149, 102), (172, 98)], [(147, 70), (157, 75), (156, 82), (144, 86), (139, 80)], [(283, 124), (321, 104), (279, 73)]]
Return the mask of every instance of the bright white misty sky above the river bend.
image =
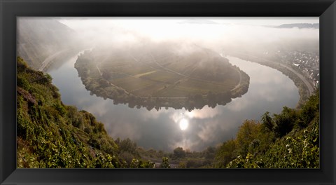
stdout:
[[(290, 23), (318, 23), (319, 18), (59, 18), (83, 40), (95, 46), (125, 46), (146, 41), (196, 43), (218, 48), (249, 45), (267, 48), (269, 43), (309, 39), (318, 41), (318, 29), (265, 27)], [(294, 41), (296, 40), (296, 41)], [(291, 44), (291, 43), (290, 43)], [(263, 49), (263, 48), (262, 48)]]

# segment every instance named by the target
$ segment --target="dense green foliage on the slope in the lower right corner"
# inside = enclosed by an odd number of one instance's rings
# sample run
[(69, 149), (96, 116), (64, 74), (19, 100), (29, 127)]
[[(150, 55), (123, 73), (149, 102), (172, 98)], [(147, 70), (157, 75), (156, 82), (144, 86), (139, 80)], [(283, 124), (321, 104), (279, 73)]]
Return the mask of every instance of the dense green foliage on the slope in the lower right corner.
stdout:
[(319, 93), (301, 109), (283, 107), (281, 114), (266, 112), (261, 122), (245, 121), (236, 139), (216, 152), (215, 167), (318, 168)]

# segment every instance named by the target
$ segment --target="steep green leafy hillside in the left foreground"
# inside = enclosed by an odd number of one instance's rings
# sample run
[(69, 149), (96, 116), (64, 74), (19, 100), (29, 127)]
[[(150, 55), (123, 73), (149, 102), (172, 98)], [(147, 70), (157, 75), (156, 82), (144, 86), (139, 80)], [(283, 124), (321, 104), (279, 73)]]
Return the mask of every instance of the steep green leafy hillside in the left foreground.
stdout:
[[(66, 106), (52, 78), (17, 60), (18, 167), (154, 167), (130, 139), (115, 142), (87, 111)], [(130, 153), (129, 163), (120, 153)]]

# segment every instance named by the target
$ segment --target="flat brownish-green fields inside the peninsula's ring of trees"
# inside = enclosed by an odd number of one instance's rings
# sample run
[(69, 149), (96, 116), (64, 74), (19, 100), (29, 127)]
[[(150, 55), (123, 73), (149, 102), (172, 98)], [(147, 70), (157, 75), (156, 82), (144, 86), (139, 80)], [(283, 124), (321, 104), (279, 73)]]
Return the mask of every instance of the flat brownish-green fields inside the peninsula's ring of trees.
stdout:
[[(97, 62), (99, 64), (99, 62)], [(99, 64), (106, 80), (138, 97), (188, 97), (232, 90), (239, 73), (207, 51), (193, 55), (113, 56)]]

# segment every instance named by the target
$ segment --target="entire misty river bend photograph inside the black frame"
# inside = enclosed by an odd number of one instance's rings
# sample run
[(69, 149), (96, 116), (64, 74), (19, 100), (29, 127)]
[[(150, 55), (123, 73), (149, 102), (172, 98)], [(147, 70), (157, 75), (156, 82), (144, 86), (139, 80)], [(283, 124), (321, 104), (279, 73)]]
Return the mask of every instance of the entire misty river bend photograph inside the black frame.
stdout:
[(318, 16), (18, 16), (16, 167), (319, 169), (320, 45)]

